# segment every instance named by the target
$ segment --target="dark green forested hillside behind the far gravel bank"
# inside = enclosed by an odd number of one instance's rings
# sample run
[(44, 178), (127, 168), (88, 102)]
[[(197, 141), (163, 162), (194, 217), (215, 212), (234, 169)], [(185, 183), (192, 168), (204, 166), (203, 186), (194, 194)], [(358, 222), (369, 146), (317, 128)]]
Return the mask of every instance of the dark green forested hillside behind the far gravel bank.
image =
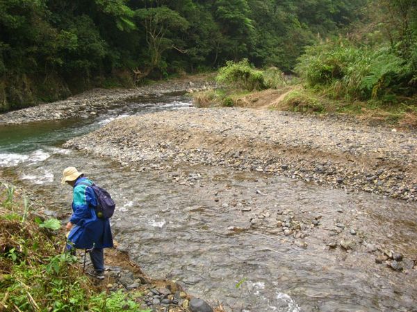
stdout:
[(3, 0), (0, 111), (247, 58), (291, 72), (366, 0)]

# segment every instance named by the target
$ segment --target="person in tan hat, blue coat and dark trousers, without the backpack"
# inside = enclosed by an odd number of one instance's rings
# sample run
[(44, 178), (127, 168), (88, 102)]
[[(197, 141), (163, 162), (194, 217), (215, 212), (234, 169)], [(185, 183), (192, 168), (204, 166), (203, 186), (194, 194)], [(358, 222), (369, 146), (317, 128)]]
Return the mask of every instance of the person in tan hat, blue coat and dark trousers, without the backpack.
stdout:
[(74, 167), (65, 168), (62, 184), (73, 187), (72, 216), (65, 229), (68, 235), (68, 249), (84, 249), (90, 254), (94, 271), (88, 272), (98, 279), (104, 279), (103, 248), (113, 247), (113, 237), (108, 218), (96, 214), (97, 196), (92, 189), (93, 182)]

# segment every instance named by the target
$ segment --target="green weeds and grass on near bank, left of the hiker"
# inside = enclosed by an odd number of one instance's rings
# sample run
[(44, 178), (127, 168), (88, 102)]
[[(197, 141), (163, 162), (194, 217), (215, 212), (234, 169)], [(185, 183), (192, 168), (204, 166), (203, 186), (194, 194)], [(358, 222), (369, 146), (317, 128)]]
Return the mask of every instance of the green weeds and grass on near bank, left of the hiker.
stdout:
[(1, 311), (140, 311), (134, 293), (95, 290), (76, 257), (64, 252), (58, 220), (31, 214), (13, 186), (0, 191)]

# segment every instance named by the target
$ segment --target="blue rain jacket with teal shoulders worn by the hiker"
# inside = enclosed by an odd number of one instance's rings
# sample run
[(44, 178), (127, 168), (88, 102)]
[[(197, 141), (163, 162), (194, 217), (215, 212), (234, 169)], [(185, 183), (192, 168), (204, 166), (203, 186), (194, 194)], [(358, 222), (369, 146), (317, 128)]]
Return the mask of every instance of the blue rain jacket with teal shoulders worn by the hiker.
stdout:
[(92, 181), (86, 177), (80, 177), (74, 184), (73, 213), (70, 218), (74, 226), (68, 235), (69, 244), (81, 249), (113, 247), (110, 221), (97, 217), (94, 190), (81, 182), (92, 185)]

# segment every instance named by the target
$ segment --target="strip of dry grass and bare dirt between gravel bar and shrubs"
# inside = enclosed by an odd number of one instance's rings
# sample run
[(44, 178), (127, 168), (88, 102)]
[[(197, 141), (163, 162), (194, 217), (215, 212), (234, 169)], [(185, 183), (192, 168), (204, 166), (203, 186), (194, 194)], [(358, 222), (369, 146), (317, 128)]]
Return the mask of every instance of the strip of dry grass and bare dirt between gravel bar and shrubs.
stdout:
[(391, 125), (416, 130), (417, 112), (412, 100), (402, 105), (377, 105), (372, 101), (334, 100), (303, 85), (282, 85), (276, 89), (247, 92), (235, 89), (207, 89), (193, 94), (197, 107), (244, 107), (329, 116), (368, 125)]

